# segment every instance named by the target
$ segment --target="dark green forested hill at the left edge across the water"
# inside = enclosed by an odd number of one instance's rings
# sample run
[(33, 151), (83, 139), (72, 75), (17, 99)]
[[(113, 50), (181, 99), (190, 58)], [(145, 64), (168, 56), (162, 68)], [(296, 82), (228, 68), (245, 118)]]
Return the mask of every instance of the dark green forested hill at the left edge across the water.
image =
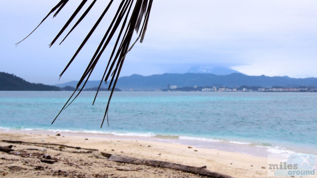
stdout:
[(61, 91), (59, 87), (25, 81), (13, 74), (0, 72), (0, 91)]

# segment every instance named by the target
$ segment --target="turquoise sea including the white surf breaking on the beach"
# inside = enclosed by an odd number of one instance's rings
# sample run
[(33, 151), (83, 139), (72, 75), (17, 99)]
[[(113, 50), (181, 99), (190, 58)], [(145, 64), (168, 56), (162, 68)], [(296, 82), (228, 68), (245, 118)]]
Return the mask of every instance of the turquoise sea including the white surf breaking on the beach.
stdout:
[(317, 93), (82, 92), (51, 124), (72, 92), (0, 92), (0, 130), (133, 136), (265, 156), (317, 154)]

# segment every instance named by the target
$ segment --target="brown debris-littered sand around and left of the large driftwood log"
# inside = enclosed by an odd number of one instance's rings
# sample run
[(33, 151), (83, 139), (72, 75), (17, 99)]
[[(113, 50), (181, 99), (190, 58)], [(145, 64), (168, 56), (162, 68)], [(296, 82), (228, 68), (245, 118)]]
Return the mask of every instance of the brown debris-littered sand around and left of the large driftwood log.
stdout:
[[(100, 159), (99, 151), (61, 149), (59, 146), (45, 148), (24, 144), (15, 144), (15, 146), (15, 150), (10, 153), (0, 152), (0, 177), (203, 177), (167, 168), (111, 162)], [(49, 154), (51, 159), (43, 159), (44, 154)], [(52, 161), (54, 164), (46, 161)]]

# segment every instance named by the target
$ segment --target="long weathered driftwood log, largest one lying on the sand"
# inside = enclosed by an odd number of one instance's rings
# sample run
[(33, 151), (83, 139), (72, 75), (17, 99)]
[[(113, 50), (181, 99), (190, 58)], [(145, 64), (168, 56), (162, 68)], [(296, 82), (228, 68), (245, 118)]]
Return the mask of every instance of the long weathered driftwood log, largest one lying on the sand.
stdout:
[(113, 154), (108, 154), (108, 153), (104, 153), (104, 152), (101, 152), (101, 155), (108, 157), (109, 161), (114, 161), (114, 162), (130, 163), (130, 164), (143, 164), (146, 166), (170, 168), (170, 169), (180, 170), (180, 171), (184, 171), (184, 172), (189, 172), (189, 173), (203, 175), (203, 176), (207, 176), (207, 177), (213, 177), (213, 178), (233, 178), (230, 175), (225, 175), (225, 174), (221, 174), (221, 173), (212, 172), (210, 170), (207, 170), (206, 166), (194, 167), (194, 166), (187, 166), (187, 165), (183, 165), (183, 164), (177, 164), (177, 163), (166, 162), (166, 161), (138, 159), (138, 158), (132, 158), (132, 157), (128, 157), (128, 156), (113, 155)]

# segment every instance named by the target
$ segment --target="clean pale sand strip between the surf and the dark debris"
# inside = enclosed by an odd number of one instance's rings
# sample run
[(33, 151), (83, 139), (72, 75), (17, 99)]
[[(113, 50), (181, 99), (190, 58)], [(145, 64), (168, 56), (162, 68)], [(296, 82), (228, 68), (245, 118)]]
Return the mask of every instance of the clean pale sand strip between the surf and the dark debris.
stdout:
[[(112, 154), (138, 157), (143, 159), (169, 161), (197, 167), (207, 166), (207, 168), (211, 171), (217, 171), (219, 173), (228, 174), (234, 177), (254, 177), (255, 175), (259, 177), (268, 177), (268, 170), (266, 168), (262, 168), (267, 167), (267, 158), (265, 157), (250, 156), (242, 153), (204, 149), (199, 147), (188, 148), (190, 145), (144, 141), (135, 137), (123, 139), (122, 137), (93, 137), (93, 135), (87, 134), (84, 136), (68, 135), (66, 133), (60, 134), (61, 136), (55, 136), (56, 133), (55, 135), (47, 135), (44, 133), (38, 134), (35, 132), (32, 134), (0, 132), (2, 139), (6, 140), (37, 143), (59, 143), (69, 146), (80, 146), (82, 148), (99, 149), (100, 151), (105, 151)], [(8, 145), (7, 143), (0, 143), (1, 146)], [(17, 148), (26, 147), (25, 145), (14, 145)], [(6, 153), (0, 152), (0, 154), (5, 158)], [(81, 155), (78, 155), (79, 159), (83, 159), (81, 158)], [(2, 167), (3, 166), (4, 165), (2, 165)], [(23, 163), (20, 165), (20, 167), (23, 167)], [(145, 173), (138, 171), (137, 174), (138, 175), (136, 175), (136, 177), (143, 177)], [(169, 175), (164, 175), (162, 177), (169, 177)]]

